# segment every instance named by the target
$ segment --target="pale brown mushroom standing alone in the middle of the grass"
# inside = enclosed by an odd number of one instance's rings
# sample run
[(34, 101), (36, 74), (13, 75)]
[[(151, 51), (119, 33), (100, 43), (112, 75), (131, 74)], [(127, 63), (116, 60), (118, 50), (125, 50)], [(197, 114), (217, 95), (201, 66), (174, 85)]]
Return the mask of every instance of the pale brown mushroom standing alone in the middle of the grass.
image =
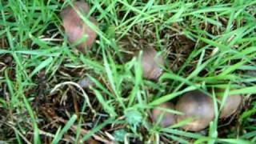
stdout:
[(142, 51), (142, 70), (143, 77), (148, 79), (158, 79), (162, 74), (162, 66), (164, 60), (162, 55), (158, 55), (157, 51), (150, 48)]

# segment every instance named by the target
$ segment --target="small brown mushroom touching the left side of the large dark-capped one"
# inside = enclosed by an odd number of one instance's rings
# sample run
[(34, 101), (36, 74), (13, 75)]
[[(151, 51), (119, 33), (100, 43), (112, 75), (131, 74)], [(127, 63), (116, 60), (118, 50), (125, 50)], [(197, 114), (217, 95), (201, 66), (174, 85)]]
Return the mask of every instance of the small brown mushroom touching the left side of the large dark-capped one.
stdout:
[(159, 123), (160, 126), (166, 127), (174, 125), (174, 123), (176, 122), (175, 114), (160, 110), (159, 108), (174, 110), (174, 104), (171, 102), (162, 103), (159, 106), (155, 107), (152, 112), (154, 122), (158, 122), (158, 118), (162, 116), (161, 122)]

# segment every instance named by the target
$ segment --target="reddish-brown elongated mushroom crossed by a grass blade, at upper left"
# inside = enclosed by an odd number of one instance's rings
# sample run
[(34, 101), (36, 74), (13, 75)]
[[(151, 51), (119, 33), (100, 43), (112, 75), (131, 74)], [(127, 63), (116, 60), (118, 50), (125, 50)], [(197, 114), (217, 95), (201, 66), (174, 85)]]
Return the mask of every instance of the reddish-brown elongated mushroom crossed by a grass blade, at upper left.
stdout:
[[(78, 50), (85, 53), (85, 47), (90, 48), (94, 44), (97, 34), (90, 26), (87, 26), (86, 23), (82, 21), (82, 18), (79, 17), (75, 10), (86, 15), (89, 13), (90, 8), (86, 2), (81, 1), (74, 2), (74, 8), (72, 6), (66, 6), (61, 12), (63, 26), (72, 44), (79, 42), (79, 39), (83, 38), (85, 34), (88, 36), (77, 46)], [(94, 18), (90, 17), (89, 20), (93, 22), (95, 26), (98, 26), (98, 22), (96, 22)]]

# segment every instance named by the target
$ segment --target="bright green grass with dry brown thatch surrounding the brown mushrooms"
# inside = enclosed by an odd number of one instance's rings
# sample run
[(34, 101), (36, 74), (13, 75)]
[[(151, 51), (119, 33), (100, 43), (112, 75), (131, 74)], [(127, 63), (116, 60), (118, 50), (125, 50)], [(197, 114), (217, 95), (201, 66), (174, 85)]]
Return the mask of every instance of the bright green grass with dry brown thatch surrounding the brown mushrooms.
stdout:
[[(70, 2), (0, 1), (0, 142), (256, 142), (255, 0), (87, 1), (99, 29), (82, 16), (98, 33), (86, 54), (62, 28)], [(145, 47), (165, 58), (158, 82), (130, 58)], [(95, 86), (81, 90), (83, 77)], [(212, 96), (218, 115), (216, 87), (243, 94), (233, 118), (198, 133), (149, 121), (155, 106), (195, 89)]]

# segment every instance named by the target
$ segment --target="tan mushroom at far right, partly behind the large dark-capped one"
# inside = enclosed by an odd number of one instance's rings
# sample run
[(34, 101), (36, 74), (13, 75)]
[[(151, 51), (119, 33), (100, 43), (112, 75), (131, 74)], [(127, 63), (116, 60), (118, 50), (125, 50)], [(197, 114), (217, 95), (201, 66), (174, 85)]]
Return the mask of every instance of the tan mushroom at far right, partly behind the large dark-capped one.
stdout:
[[(217, 90), (218, 92), (223, 92), (224, 90)], [(223, 93), (218, 95), (218, 99), (222, 102)], [(242, 104), (241, 94), (228, 95), (224, 105), (222, 107), (219, 118), (228, 118), (230, 115), (234, 114), (238, 110), (239, 106)]]

